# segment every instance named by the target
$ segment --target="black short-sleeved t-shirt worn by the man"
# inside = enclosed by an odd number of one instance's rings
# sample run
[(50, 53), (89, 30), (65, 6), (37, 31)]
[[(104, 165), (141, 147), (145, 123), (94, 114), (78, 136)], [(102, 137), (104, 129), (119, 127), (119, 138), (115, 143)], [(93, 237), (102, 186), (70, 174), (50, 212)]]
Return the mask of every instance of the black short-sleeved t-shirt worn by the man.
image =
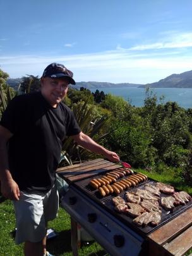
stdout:
[(0, 125), (13, 133), (8, 143), (9, 169), (20, 190), (49, 191), (63, 139), (81, 131), (72, 111), (63, 103), (51, 107), (40, 92), (19, 95), (9, 103)]

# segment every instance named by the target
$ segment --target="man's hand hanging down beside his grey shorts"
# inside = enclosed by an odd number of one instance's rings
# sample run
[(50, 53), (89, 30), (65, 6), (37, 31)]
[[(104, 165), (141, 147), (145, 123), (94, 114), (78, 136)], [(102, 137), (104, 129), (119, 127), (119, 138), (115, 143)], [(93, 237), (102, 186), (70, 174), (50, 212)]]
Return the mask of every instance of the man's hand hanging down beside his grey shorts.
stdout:
[(10, 200), (20, 200), (20, 189), (13, 179), (1, 181), (1, 193)]

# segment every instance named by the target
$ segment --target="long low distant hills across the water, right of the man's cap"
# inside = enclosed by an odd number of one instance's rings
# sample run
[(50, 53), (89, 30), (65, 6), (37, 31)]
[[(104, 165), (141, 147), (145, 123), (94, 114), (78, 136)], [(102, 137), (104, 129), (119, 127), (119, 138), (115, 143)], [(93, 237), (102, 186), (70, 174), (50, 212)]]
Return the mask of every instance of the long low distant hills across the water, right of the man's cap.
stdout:
[(104, 88), (104, 87), (140, 87), (141, 84), (136, 83), (105, 83), (105, 82), (76, 82), (75, 87), (80, 88), (89, 88), (89, 89), (97, 89), (97, 88)]

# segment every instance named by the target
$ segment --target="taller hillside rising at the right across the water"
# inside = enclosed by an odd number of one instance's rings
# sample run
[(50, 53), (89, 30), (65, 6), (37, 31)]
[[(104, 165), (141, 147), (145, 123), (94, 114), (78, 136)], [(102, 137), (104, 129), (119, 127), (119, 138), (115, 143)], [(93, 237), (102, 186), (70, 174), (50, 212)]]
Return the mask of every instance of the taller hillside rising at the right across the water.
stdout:
[(146, 86), (152, 88), (192, 88), (192, 70), (181, 74), (172, 74), (159, 80), (159, 82), (147, 83), (147, 85), (140, 87)]

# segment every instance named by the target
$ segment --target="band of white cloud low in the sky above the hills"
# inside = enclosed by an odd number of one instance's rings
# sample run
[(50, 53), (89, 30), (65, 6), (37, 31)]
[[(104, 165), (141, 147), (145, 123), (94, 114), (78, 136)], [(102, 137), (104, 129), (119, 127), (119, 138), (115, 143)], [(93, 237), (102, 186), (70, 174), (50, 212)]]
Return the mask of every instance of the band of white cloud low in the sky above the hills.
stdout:
[(57, 62), (72, 70), (77, 82), (152, 83), (172, 73), (191, 70), (192, 52), (188, 51), (189, 46), (192, 46), (192, 33), (176, 36), (172, 32), (166, 34), (166, 39), (138, 45), (134, 51), (134, 47), (124, 49), (118, 44), (113, 51), (87, 54), (1, 56), (0, 66), (12, 78), (26, 74), (41, 76), (45, 66)]

